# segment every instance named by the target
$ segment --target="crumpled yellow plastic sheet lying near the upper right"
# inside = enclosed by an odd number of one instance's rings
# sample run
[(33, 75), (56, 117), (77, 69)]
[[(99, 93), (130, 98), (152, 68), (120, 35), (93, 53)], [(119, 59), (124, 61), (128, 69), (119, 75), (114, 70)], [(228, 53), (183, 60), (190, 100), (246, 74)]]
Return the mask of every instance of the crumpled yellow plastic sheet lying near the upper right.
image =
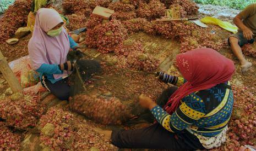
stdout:
[(237, 30), (238, 30), (237, 26), (232, 25), (230, 22), (221, 21), (219, 19), (212, 18), (212, 17), (209, 17), (209, 16), (201, 19), (200, 21), (204, 22), (205, 24), (218, 25), (221, 28), (224, 28), (224, 30), (230, 31), (232, 33), (237, 33)]

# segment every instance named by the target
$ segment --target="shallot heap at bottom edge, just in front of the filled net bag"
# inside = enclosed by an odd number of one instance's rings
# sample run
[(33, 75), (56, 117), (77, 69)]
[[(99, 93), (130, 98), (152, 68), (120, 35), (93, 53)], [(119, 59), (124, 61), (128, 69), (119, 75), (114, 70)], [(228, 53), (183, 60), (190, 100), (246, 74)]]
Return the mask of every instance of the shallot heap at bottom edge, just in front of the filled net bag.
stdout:
[(94, 129), (68, 111), (50, 108), (39, 123), (43, 148), (52, 150), (117, 150)]

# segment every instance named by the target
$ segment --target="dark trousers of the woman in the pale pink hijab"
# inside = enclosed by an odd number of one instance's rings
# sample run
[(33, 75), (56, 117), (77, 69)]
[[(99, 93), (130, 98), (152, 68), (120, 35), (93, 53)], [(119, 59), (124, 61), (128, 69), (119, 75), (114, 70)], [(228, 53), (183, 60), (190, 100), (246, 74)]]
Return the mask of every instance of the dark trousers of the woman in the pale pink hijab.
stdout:
[[(70, 95), (70, 86), (67, 83), (67, 78), (59, 80), (56, 83), (51, 83), (49, 80), (47, 80), (47, 78), (45, 78), (44, 81), (45, 81), (47, 88), (59, 100), (68, 100), (69, 95)], [(44, 84), (42, 84), (42, 85), (45, 86)]]

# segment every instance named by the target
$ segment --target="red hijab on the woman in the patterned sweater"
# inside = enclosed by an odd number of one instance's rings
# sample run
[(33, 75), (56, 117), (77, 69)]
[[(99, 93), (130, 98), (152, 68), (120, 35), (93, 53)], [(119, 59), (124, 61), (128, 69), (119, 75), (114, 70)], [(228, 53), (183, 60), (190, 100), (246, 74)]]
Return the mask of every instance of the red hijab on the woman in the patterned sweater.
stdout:
[(187, 82), (179, 87), (166, 103), (164, 108), (169, 114), (176, 111), (184, 96), (225, 83), (231, 79), (235, 71), (232, 60), (209, 48), (179, 54), (176, 56), (176, 62)]

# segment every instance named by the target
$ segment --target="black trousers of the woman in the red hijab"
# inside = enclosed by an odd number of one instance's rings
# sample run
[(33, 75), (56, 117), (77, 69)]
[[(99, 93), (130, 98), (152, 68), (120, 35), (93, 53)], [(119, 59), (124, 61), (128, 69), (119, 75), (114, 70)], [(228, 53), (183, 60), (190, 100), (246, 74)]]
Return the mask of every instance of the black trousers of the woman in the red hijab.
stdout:
[[(157, 100), (164, 106), (168, 98), (177, 87), (171, 87), (162, 92)], [(187, 130), (178, 133), (167, 131), (159, 123), (137, 130), (113, 130), (112, 144), (119, 148), (146, 148), (146, 149), (171, 149), (171, 150), (197, 150), (205, 149), (198, 138)]]

